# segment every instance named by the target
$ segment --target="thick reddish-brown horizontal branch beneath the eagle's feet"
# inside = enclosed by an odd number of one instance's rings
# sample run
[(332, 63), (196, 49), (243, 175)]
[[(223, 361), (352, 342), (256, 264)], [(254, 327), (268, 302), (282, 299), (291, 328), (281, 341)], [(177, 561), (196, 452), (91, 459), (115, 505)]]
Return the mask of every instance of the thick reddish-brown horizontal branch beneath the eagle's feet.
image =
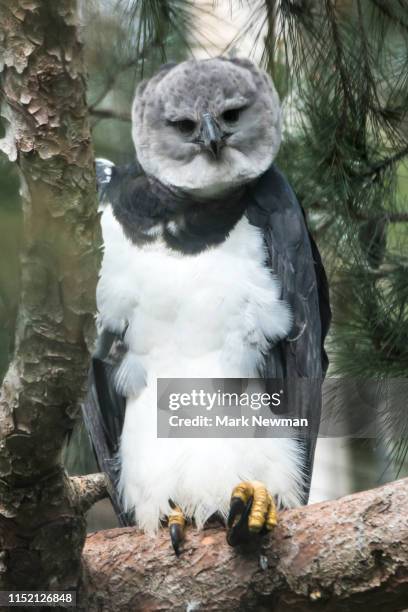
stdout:
[(282, 513), (244, 555), (222, 529), (189, 530), (176, 558), (167, 530), (87, 538), (81, 609), (394, 612), (408, 608), (408, 479)]

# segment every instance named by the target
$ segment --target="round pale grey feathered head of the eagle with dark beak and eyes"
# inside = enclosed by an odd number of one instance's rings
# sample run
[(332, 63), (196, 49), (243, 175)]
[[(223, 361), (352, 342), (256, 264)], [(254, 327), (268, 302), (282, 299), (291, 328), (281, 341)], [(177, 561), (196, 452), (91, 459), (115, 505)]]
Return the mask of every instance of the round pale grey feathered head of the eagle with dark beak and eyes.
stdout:
[(270, 77), (248, 60), (189, 60), (142, 82), (132, 109), (139, 163), (162, 183), (216, 195), (261, 175), (281, 140)]

